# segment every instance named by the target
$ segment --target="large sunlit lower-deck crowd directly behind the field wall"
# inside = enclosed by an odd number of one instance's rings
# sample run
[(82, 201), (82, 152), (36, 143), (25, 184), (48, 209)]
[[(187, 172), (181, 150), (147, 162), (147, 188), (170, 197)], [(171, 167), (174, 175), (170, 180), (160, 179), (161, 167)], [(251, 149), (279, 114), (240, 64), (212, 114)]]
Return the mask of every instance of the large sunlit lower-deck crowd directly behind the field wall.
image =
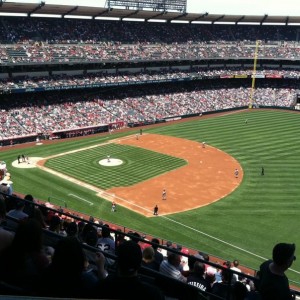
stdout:
[[(220, 85), (220, 83), (218, 83)], [(13, 96), (13, 97), (12, 97)], [(24, 95), (23, 95), (24, 96)], [(25, 97), (26, 96), (26, 97)], [(195, 82), (170, 88), (163, 84), (155, 93), (149, 86), (126, 87), (115, 91), (35, 93), (24, 97), (9, 95), (1, 107), (1, 138), (29, 134), (47, 134), (114, 124), (155, 122), (180, 115), (248, 106), (251, 87), (210, 87)], [(291, 107), (296, 90), (285, 86), (258, 87), (253, 94), (257, 106)], [(30, 99), (30, 102), (29, 102)]]

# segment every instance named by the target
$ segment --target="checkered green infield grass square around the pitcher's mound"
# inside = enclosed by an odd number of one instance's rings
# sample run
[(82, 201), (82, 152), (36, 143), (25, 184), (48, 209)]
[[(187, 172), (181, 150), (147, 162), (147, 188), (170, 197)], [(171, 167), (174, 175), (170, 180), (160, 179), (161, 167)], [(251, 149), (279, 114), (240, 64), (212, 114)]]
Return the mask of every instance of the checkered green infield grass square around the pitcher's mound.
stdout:
[[(109, 144), (98, 148), (52, 158), (46, 166), (93, 184), (102, 189), (130, 186), (184, 166), (183, 159), (127, 145)], [(111, 158), (123, 160), (114, 167), (99, 165), (99, 160)], [(77, 163), (80, 161), (80, 163)]]

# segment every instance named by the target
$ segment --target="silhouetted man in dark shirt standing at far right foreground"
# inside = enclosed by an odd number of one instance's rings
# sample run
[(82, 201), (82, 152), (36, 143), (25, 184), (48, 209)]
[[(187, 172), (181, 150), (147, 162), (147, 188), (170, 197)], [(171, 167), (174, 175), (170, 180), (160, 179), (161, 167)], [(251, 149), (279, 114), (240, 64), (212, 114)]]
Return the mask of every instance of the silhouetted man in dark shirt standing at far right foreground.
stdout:
[(276, 244), (273, 259), (260, 265), (257, 288), (263, 300), (293, 299), (285, 271), (296, 259), (295, 250), (295, 244)]

